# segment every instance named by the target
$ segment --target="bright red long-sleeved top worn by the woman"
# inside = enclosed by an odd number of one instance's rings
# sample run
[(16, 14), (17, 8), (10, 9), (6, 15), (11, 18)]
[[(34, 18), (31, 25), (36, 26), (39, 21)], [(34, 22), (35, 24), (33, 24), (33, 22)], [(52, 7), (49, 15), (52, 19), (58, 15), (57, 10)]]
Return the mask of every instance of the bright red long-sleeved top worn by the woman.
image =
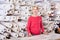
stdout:
[(27, 23), (27, 31), (28, 31), (28, 34), (32, 33), (36, 35), (40, 34), (41, 32), (44, 32), (44, 27), (42, 24), (42, 17), (30, 16)]

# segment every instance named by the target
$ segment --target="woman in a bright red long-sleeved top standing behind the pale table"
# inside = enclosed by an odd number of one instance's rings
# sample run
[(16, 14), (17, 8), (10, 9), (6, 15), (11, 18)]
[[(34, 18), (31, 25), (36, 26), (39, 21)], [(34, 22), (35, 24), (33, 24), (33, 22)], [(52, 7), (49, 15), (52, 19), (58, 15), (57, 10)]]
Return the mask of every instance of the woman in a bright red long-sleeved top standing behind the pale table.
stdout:
[(38, 16), (38, 7), (33, 6), (32, 15), (28, 18), (27, 31), (28, 36), (39, 35), (44, 33), (44, 27), (42, 24), (42, 17)]

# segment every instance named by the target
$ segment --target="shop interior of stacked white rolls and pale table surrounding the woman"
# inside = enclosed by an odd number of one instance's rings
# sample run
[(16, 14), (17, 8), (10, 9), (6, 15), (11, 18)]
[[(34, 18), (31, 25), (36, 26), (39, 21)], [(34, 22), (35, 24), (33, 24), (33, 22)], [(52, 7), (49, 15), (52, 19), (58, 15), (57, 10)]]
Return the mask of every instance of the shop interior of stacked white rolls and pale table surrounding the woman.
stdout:
[[(39, 7), (38, 15), (42, 16), (44, 29), (48, 35), (41, 34), (28, 38), (26, 25), (34, 5)], [(60, 0), (0, 0), (0, 40), (11, 38), (11, 40), (18, 40), (18, 38), (60, 40), (59, 35)]]

